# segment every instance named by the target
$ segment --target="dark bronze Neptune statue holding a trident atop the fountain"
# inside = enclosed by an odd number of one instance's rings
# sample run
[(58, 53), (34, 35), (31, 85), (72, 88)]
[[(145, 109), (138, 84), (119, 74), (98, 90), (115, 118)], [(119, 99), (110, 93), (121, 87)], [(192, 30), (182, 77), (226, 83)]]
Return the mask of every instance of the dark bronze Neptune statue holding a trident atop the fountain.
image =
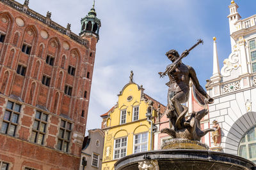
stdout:
[(201, 39), (181, 55), (176, 50), (166, 52), (166, 56), (172, 61), (172, 64), (166, 67), (164, 73), (159, 72), (161, 77), (168, 75), (170, 78), (170, 81), (166, 83), (169, 87), (166, 115), (170, 119), (170, 129), (165, 128), (161, 132), (169, 134), (172, 138), (199, 141), (207, 132), (214, 131), (213, 129), (200, 130), (200, 120), (207, 115), (208, 110), (193, 112), (191, 117), (186, 120), (185, 115), (188, 113), (188, 107), (182, 105), (189, 99), (189, 80), (192, 80), (196, 90), (205, 97), (205, 103), (213, 103), (213, 99), (201, 87), (193, 67), (185, 65), (181, 61), (200, 43), (203, 43)]

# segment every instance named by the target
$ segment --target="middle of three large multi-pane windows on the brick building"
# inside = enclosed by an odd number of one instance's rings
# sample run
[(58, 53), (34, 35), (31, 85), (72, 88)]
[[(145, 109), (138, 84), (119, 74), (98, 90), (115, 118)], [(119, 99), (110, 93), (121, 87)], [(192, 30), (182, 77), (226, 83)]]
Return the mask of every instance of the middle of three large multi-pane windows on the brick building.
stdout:
[(44, 144), (45, 131), (47, 127), (48, 115), (40, 111), (36, 111), (35, 122), (33, 124), (33, 131), (31, 141), (40, 145)]

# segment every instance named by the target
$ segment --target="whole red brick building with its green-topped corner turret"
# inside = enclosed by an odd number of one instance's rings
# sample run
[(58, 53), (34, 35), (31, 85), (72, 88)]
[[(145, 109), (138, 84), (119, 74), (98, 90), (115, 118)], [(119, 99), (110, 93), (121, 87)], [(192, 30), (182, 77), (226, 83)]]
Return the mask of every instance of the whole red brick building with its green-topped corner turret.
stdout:
[(100, 20), (79, 36), (0, 1), (0, 169), (79, 169)]

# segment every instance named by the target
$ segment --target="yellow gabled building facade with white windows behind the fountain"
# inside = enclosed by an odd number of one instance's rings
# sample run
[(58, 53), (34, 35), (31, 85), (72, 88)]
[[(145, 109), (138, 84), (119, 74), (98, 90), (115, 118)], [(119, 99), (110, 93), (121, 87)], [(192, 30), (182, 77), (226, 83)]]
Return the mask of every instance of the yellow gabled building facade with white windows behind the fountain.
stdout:
[(115, 162), (126, 155), (152, 148), (151, 129), (154, 131), (159, 103), (143, 90), (142, 86), (130, 81), (118, 94), (116, 105), (101, 115), (105, 133), (103, 170), (115, 169)]

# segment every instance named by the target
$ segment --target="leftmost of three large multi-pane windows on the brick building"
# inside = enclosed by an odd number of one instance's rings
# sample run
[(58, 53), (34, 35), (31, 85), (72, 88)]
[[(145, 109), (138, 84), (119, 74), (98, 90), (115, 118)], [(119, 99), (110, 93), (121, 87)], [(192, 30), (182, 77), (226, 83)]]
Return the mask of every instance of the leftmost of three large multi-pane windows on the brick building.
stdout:
[(15, 131), (19, 121), (20, 108), (20, 104), (8, 101), (1, 128), (2, 133), (15, 136)]

